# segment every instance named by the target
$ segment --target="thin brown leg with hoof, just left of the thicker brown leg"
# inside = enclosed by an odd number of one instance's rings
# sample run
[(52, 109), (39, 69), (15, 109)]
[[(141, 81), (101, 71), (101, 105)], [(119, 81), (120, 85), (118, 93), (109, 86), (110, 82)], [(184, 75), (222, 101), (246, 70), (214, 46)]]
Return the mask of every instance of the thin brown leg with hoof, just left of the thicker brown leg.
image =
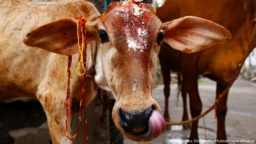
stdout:
[[(182, 82), (181, 84), (181, 96), (182, 96), (182, 102), (183, 102), (183, 115), (182, 115), (182, 121), (188, 120), (188, 108), (187, 108), (187, 91), (185, 87), (185, 83)], [(190, 129), (190, 123), (183, 124), (183, 129)]]

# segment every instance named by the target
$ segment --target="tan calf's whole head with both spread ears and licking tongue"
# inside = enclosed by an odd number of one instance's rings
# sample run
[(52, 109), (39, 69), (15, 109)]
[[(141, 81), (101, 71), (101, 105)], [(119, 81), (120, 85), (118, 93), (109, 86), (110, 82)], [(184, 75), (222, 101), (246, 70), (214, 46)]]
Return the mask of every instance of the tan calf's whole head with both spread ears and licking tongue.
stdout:
[[(24, 39), (26, 45), (70, 55), (78, 52), (76, 20), (64, 18), (41, 26)], [(116, 96), (113, 121), (133, 140), (152, 140), (165, 129), (161, 109), (154, 100), (155, 69), (162, 42), (191, 53), (230, 39), (225, 28), (187, 16), (161, 23), (151, 5), (133, 0), (115, 2), (87, 24), (87, 43), (98, 41), (95, 81)], [(103, 83), (102, 83), (103, 82)]]

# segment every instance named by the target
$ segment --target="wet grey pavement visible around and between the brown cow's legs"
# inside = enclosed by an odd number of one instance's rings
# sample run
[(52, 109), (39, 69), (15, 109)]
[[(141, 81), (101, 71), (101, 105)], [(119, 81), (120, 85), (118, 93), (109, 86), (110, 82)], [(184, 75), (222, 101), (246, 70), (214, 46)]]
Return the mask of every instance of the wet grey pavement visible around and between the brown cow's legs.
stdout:
[[(215, 101), (216, 83), (207, 78), (200, 79), (199, 93), (203, 102), (203, 111), (207, 110)], [(164, 107), (163, 85), (158, 85), (153, 94), (159, 105)], [(179, 98), (176, 107), (177, 84), (171, 84), (171, 96), (169, 98), (169, 113), (171, 121), (179, 122), (182, 117), (182, 99)], [(189, 100), (188, 100), (189, 102)], [(226, 133), (229, 140), (254, 140), (256, 143), (256, 83), (238, 79), (231, 87), (227, 101), (228, 111), (226, 116)], [(214, 123), (214, 111), (205, 116), (206, 137), (215, 140), (217, 126)], [(199, 120), (199, 138), (204, 140), (203, 118)], [(181, 144), (177, 140), (187, 140), (190, 130), (183, 130), (182, 126), (173, 126), (149, 143)], [(172, 142), (173, 141), (173, 142)], [(176, 142), (175, 142), (176, 141)], [(125, 144), (133, 144), (134, 141), (125, 139)], [(242, 143), (245, 144), (245, 143)]]

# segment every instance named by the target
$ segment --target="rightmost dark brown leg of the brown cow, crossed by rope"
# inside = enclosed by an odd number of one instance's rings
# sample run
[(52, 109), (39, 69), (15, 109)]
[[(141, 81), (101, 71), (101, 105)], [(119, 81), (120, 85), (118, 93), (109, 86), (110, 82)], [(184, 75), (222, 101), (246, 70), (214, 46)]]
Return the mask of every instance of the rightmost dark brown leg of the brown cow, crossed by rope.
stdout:
[[(220, 83), (217, 83), (216, 98), (226, 89)], [(217, 114), (217, 139), (226, 140), (225, 131), (225, 117), (227, 113), (227, 94), (223, 95), (222, 99), (217, 104), (216, 114)]]

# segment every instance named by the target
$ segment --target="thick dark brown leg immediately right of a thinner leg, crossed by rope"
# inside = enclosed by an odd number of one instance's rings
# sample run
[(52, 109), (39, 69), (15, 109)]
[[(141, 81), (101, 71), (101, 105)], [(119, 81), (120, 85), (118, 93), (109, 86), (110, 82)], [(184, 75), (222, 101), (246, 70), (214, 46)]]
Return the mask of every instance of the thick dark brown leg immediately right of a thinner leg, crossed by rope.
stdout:
[[(197, 117), (202, 112), (202, 102), (199, 97), (198, 92), (198, 86), (197, 86), (197, 75), (188, 75), (184, 78), (184, 81), (186, 80), (186, 88), (189, 94), (189, 105), (190, 105), (190, 112), (191, 117)], [(198, 133), (197, 133), (197, 127), (198, 127), (198, 120), (192, 122), (191, 126), (191, 133), (189, 140), (198, 140)], [(198, 142), (197, 142), (198, 143)]]

